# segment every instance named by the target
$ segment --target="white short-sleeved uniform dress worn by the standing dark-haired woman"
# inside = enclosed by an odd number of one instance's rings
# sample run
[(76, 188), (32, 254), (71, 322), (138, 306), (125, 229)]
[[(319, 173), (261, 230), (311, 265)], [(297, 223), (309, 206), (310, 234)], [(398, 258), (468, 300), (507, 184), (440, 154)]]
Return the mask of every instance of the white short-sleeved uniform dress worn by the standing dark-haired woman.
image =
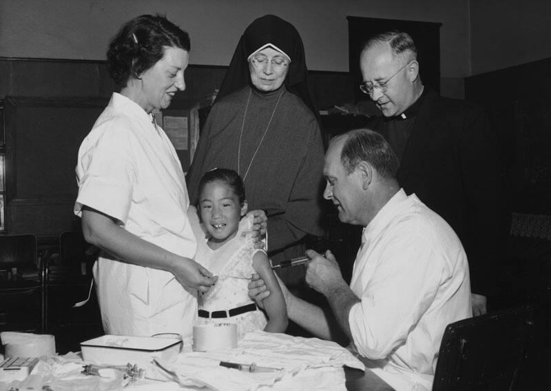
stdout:
[[(180, 161), (165, 132), (134, 101), (113, 94), (81, 144), (76, 175), (76, 215), (87, 205), (145, 241), (194, 257), (196, 239)], [(185, 290), (170, 272), (101, 252), (94, 280), (107, 334), (176, 332), (191, 338), (196, 291)]]

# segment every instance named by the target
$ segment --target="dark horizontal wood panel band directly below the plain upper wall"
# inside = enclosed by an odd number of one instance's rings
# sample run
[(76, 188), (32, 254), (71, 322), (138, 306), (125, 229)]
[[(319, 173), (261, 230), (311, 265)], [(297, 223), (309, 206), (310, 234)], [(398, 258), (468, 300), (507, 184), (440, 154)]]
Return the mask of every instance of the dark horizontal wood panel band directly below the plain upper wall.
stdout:
[[(176, 101), (201, 101), (220, 87), (227, 67), (190, 65), (186, 90)], [(116, 86), (103, 61), (7, 59), (0, 57), (0, 99), (16, 97), (110, 97)], [(312, 99), (324, 110), (352, 101), (349, 72), (310, 71)]]

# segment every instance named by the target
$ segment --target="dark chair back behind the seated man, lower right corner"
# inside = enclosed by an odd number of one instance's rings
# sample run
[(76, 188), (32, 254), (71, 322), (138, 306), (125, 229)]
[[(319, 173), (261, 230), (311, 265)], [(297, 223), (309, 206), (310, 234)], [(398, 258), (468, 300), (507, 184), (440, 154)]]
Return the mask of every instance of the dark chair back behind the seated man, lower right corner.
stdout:
[(446, 327), (433, 391), (516, 390), (534, 335), (534, 308), (523, 305)]

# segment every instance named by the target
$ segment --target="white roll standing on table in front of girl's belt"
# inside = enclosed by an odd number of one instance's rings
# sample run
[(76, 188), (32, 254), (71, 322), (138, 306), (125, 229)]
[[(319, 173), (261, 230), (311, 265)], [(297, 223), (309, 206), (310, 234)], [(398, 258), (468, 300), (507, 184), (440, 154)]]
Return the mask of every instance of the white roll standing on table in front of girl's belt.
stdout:
[(237, 348), (236, 323), (211, 323), (194, 326), (194, 351), (207, 352), (233, 348)]

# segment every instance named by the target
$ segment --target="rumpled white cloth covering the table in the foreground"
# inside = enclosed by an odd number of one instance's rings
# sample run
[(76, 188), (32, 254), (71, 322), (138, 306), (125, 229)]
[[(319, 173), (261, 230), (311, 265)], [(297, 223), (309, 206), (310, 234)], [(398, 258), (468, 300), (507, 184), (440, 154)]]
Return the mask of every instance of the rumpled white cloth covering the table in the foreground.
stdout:
[[(256, 363), (282, 370), (249, 373), (222, 367), (220, 361)], [(84, 364), (79, 354), (50, 357), (40, 361), (23, 382), (0, 382), (0, 391), (10, 390), (10, 387), (43, 390), (45, 385), (55, 391), (120, 390), (123, 386), (129, 391), (345, 391), (343, 366), (365, 368), (337, 343), (261, 331), (247, 334), (236, 349), (184, 352), (175, 362), (163, 363), (178, 374), (181, 386), (153, 364), (143, 368), (143, 379), (131, 383), (123, 379), (120, 371), (109, 372), (110, 377), (86, 376), (81, 373)]]

